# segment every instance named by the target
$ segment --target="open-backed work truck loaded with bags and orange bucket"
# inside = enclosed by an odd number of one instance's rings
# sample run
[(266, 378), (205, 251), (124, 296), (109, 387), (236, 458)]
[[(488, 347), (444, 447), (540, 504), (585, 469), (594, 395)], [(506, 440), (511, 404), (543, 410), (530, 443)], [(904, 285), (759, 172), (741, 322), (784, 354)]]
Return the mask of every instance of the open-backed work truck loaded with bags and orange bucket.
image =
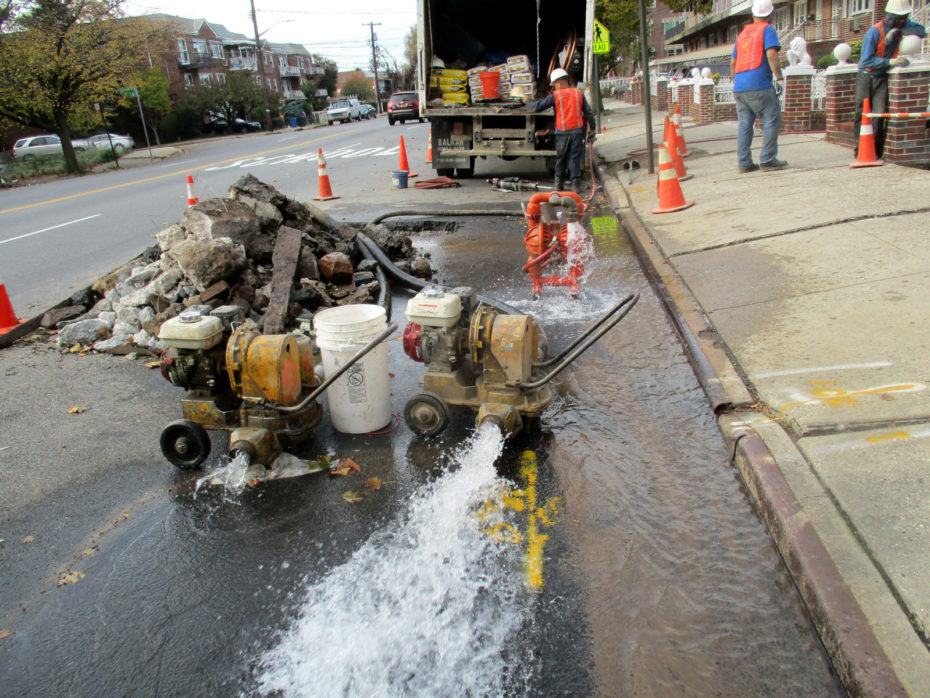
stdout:
[[(543, 159), (552, 169), (552, 110), (532, 113), (518, 95), (544, 97), (557, 67), (587, 92), (596, 79), (593, 27), (594, 0), (417, 0), (417, 90), (436, 173), (469, 177), (479, 157)], [(496, 98), (481, 81), (494, 71)]]

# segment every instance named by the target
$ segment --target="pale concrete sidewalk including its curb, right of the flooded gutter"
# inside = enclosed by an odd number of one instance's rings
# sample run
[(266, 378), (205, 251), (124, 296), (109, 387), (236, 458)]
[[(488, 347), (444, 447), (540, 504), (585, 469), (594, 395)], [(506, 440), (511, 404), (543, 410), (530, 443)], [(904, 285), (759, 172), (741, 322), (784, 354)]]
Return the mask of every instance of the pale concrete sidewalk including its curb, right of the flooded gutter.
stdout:
[(930, 171), (850, 169), (849, 149), (801, 134), (779, 138), (788, 169), (741, 175), (735, 122), (686, 121), (696, 204), (656, 215), (643, 108), (605, 108), (605, 190), (844, 685), (926, 695)]

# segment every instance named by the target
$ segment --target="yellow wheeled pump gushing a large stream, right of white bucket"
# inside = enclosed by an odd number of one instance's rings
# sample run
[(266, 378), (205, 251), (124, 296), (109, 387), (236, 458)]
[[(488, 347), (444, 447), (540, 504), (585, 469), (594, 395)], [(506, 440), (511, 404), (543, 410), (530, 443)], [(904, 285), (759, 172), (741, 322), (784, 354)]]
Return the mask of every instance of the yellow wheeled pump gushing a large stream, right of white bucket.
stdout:
[(529, 315), (498, 312), (468, 287), (424, 289), (407, 302), (404, 352), (425, 363), (426, 374), (423, 392), (407, 400), (404, 420), (417, 434), (433, 436), (448, 425), (449, 406), (457, 406), (476, 411), (478, 424), (494, 422), (505, 434), (516, 434), (549, 406), (549, 382), (638, 299), (630, 294), (547, 359), (545, 336)]

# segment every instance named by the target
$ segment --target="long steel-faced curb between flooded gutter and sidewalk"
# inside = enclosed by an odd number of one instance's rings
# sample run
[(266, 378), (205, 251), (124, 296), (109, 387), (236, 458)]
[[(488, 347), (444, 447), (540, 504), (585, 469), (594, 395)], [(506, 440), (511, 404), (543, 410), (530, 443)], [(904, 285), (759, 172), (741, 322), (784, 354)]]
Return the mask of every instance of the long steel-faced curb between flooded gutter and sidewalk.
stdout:
[(754, 403), (750, 390), (697, 300), (660, 252), (620, 180), (601, 164), (595, 167), (604, 192), (623, 221), (640, 265), (668, 311), (701, 388), (717, 415), (731, 462), (775, 541), (843, 687), (851, 696), (907, 695), (872, 625), (779, 469), (775, 456), (747, 419), (758, 418), (771, 424), (789, 444), (787, 448), (794, 457), (804, 460), (803, 455), (781, 425), (750, 411)]

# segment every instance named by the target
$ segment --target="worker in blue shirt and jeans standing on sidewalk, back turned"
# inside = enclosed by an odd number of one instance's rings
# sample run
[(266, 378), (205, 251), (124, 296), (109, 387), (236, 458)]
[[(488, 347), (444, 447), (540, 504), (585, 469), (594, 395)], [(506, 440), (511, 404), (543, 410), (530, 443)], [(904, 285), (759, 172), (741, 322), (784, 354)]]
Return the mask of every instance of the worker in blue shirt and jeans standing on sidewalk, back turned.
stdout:
[[(775, 8), (772, 0), (753, 0), (752, 23), (739, 33), (730, 57), (733, 74), (733, 98), (739, 122), (736, 157), (739, 171), (782, 170), (788, 166), (778, 155), (778, 129), (781, 126), (781, 103), (772, 82), (782, 79), (778, 52), (781, 44), (775, 28), (765, 21)], [(779, 86), (780, 87), (780, 86)], [(762, 121), (762, 152), (759, 164), (752, 161), (752, 135), (756, 117)]]

